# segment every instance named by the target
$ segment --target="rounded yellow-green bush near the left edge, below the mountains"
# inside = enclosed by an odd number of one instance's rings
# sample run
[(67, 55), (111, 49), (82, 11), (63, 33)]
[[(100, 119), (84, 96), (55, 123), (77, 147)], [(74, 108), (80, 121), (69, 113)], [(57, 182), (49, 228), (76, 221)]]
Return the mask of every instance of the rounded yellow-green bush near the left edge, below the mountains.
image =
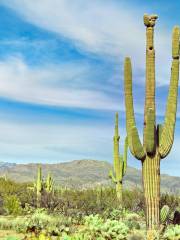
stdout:
[(18, 215), (22, 212), (21, 203), (16, 195), (5, 196), (3, 208), (8, 215)]

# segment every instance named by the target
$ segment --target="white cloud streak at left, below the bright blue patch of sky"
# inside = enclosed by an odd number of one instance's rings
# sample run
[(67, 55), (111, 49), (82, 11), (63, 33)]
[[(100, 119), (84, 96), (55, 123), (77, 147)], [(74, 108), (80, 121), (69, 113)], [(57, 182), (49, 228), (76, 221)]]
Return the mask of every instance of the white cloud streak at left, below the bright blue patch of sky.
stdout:
[(79, 79), (88, 74), (89, 66), (83, 63), (32, 68), (21, 58), (10, 58), (0, 62), (0, 96), (52, 106), (118, 109), (119, 104), (105, 93), (81, 87)]

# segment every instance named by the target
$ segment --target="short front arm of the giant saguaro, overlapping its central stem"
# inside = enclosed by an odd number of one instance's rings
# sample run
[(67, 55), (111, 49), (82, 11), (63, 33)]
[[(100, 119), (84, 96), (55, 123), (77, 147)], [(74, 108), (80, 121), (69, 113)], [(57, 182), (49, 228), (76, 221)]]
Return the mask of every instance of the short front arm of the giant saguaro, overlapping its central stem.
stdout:
[(155, 114), (152, 108), (149, 108), (147, 112), (144, 139), (146, 152), (153, 153), (155, 149)]

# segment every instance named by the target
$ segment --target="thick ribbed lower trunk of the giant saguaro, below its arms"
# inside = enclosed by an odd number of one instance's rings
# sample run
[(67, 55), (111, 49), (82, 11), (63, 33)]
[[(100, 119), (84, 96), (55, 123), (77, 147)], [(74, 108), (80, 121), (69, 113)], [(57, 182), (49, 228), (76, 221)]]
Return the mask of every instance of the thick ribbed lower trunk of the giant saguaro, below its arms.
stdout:
[(148, 229), (159, 227), (160, 200), (160, 156), (149, 157), (142, 162), (143, 188), (146, 205), (146, 221)]

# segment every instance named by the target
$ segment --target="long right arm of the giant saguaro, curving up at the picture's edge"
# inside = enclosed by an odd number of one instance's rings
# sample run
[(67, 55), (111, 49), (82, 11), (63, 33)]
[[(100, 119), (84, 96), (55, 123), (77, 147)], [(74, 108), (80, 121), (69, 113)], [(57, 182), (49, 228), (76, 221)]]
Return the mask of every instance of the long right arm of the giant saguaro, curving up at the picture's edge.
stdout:
[(173, 29), (172, 39), (172, 68), (171, 81), (169, 87), (168, 101), (166, 107), (164, 127), (160, 138), (159, 152), (161, 158), (165, 158), (171, 150), (174, 140), (174, 129), (176, 122), (178, 81), (179, 81), (179, 42), (180, 29)]

